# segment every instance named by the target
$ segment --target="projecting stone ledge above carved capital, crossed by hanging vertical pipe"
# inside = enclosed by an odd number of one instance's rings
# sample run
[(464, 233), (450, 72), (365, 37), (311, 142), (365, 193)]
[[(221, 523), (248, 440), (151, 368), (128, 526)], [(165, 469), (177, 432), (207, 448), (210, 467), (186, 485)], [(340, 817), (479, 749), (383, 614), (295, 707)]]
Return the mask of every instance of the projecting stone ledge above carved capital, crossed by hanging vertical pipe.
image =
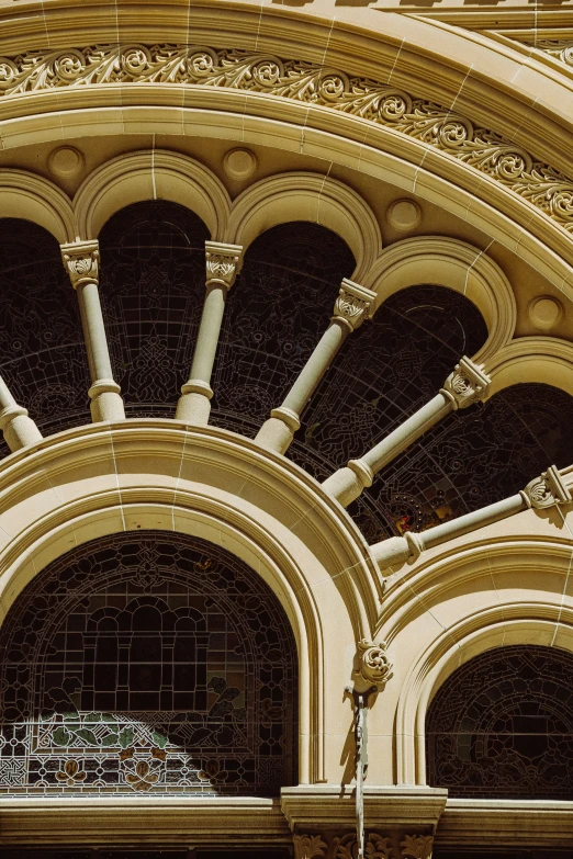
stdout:
[[(367, 829), (391, 827), (436, 828), (446, 806), (448, 791), (424, 787), (367, 787), (364, 825)], [(283, 788), (281, 807), (294, 830), (353, 828), (356, 805), (353, 785), (299, 784)]]

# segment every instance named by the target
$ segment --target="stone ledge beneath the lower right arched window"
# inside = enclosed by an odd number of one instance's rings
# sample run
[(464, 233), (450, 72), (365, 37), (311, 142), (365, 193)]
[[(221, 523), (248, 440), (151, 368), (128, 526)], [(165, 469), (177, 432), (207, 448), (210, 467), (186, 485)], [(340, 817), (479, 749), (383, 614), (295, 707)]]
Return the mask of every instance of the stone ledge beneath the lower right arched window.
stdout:
[(573, 802), (550, 800), (448, 800), (436, 845), (571, 847)]

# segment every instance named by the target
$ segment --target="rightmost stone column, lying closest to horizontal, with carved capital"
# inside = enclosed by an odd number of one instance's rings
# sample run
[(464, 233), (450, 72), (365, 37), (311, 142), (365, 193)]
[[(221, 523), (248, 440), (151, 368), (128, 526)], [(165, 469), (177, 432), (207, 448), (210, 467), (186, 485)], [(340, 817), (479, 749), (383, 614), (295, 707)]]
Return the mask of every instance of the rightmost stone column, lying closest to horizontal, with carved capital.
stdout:
[(521, 512), (528, 508), (546, 509), (553, 505), (571, 504), (571, 493), (565, 486), (561, 474), (551, 465), (540, 477), (530, 481), (525, 489), (482, 507), (472, 513), (460, 516), (449, 522), (428, 528), (420, 533), (407, 531), (403, 536), (391, 536), (371, 546), (372, 554), (380, 569), (386, 569), (392, 564), (402, 564), (418, 557), (426, 549), (446, 543), (457, 536), (476, 531), (493, 522), (499, 522), (508, 516)]

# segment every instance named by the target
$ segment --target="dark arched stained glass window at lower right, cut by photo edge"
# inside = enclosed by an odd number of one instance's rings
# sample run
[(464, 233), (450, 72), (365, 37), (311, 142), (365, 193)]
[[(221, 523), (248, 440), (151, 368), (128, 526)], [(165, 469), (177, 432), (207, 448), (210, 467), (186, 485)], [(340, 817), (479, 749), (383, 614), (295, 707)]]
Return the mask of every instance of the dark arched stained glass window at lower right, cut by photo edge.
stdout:
[(573, 799), (573, 654), (507, 646), (458, 668), (426, 720), (428, 782), (450, 796)]

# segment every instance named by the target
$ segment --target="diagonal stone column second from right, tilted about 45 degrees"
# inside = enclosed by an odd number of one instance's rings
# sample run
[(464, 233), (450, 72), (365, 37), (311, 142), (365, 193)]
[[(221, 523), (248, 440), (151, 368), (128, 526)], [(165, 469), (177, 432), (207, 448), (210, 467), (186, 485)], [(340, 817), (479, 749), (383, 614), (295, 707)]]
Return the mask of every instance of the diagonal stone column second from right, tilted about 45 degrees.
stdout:
[(350, 460), (348, 465), (327, 477), (323, 483), (323, 489), (336, 498), (342, 507), (347, 507), (358, 498), (364, 487), (372, 486), (374, 475), (384, 465), (442, 420), (446, 415), (485, 399), (490, 383), (490, 376), (483, 372), (482, 365), (474, 364), (469, 358), (462, 358), (443, 383), (443, 387), (429, 403), (359, 460)]

